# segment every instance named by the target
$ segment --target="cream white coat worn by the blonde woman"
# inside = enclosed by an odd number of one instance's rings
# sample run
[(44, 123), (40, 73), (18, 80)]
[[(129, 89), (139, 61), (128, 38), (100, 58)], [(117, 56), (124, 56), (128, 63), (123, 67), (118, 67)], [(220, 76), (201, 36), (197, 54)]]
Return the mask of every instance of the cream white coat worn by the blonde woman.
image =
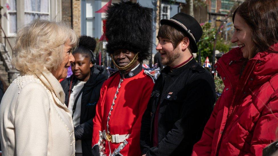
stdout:
[(75, 155), (64, 91), (46, 69), (18, 76), (0, 104), (2, 155)]

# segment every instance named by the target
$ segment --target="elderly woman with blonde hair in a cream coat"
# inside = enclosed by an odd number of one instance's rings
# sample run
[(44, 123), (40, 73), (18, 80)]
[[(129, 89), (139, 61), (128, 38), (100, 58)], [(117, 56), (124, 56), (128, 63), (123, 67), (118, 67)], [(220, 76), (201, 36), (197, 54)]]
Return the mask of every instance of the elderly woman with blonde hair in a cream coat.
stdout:
[(12, 63), (21, 74), (0, 105), (3, 155), (74, 155), (75, 137), (65, 94), (77, 34), (63, 22), (34, 20), (16, 37)]

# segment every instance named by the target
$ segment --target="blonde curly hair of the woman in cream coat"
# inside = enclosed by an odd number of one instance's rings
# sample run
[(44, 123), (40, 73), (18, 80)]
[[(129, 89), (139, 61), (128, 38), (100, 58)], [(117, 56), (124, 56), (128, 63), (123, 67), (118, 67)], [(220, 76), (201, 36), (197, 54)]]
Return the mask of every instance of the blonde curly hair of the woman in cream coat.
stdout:
[(12, 64), (21, 74), (44, 67), (52, 72), (62, 64), (64, 45), (74, 48), (78, 42), (66, 23), (36, 19), (18, 31)]

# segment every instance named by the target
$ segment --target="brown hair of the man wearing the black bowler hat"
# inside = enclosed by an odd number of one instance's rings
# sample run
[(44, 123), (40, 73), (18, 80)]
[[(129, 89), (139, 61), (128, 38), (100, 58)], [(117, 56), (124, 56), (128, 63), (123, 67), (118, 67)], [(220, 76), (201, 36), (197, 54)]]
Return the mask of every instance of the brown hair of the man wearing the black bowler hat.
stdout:
[[(183, 40), (183, 38), (186, 37), (186, 35), (177, 28), (174, 28), (169, 25), (162, 25), (158, 30), (157, 37), (169, 39), (172, 42), (172, 45), (175, 49), (178, 46), (178, 44)], [(189, 51), (191, 51), (190, 46), (191, 44), (189, 43)]]

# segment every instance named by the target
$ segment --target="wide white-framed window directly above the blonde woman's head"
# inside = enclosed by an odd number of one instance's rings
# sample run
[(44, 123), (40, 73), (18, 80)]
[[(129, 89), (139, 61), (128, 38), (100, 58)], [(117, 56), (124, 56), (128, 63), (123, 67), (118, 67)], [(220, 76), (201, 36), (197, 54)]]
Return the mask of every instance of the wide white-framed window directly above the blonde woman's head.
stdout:
[(50, 0), (24, 0), (24, 22), (30, 23), (36, 18), (50, 18)]

